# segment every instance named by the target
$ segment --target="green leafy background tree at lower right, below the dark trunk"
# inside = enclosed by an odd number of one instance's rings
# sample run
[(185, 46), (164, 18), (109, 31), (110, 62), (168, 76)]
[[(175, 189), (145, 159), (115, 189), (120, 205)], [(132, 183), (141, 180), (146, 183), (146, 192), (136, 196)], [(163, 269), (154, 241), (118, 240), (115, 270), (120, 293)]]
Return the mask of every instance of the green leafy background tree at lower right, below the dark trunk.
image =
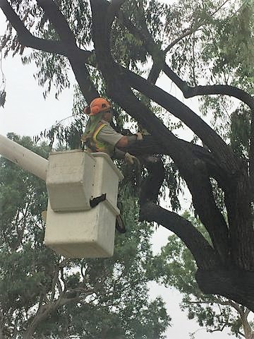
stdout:
[[(208, 239), (200, 221), (188, 212), (183, 213), (183, 218), (190, 220)], [(175, 234), (170, 235), (168, 240), (154, 260), (155, 270), (164, 273), (158, 283), (181, 292), (180, 307), (188, 311), (188, 319), (195, 319), (210, 333), (229, 328), (236, 338), (253, 339), (253, 322), (248, 320), (250, 310), (219, 295), (204, 295), (193, 278), (197, 268), (191, 252)], [(195, 332), (191, 333), (191, 338), (195, 338)]]

